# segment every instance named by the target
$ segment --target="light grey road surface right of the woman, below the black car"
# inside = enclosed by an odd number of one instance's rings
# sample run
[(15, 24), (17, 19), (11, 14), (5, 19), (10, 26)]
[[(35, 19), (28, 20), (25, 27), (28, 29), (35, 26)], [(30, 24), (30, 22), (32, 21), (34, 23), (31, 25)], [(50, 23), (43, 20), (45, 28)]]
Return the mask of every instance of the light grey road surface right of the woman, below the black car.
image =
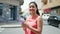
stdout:
[(60, 34), (60, 29), (50, 25), (44, 25), (42, 34)]

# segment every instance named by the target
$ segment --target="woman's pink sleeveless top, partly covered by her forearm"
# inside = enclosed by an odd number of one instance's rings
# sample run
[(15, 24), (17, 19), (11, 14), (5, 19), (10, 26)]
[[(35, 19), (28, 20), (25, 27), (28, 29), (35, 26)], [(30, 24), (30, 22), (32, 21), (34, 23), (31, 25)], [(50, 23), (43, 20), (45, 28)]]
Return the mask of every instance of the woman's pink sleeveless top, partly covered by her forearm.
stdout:
[[(28, 18), (27, 24), (34, 27), (34, 28), (37, 28), (37, 17), (36, 17), (36, 19)], [(35, 34), (35, 33), (32, 32), (30, 29), (26, 28), (25, 29), (25, 34)]]

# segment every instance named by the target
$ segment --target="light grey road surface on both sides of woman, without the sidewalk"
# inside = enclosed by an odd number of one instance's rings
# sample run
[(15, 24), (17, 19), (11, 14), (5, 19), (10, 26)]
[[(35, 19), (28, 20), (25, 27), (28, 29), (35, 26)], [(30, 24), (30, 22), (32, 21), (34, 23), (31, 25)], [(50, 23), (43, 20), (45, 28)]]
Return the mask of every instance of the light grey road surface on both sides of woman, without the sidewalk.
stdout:
[[(0, 28), (0, 34), (24, 34), (22, 28)], [(60, 34), (60, 29), (50, 25), (43, 25), (42, 34)]]

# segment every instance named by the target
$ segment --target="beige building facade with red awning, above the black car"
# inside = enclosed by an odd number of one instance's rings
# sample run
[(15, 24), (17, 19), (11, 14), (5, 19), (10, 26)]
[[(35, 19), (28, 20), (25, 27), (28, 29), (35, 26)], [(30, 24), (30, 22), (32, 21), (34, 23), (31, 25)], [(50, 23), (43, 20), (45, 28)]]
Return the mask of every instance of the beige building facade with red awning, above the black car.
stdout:
[(44, 13), (50, 13), (51, 15), (60, 15), (60, 0), (42, 0)]

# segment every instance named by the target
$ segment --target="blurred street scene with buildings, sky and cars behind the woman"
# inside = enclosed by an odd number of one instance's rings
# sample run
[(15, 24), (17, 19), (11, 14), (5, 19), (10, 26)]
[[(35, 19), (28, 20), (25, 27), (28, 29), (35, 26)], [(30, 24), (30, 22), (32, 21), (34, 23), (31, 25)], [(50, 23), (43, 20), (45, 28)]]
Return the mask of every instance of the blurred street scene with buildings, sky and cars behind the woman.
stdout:
[(42, 34), (60, 34), (60, 0), (0, 0), (0, 34), (24, 34), (19, 19), (30, 15), (33, 1), (43, 19)]

